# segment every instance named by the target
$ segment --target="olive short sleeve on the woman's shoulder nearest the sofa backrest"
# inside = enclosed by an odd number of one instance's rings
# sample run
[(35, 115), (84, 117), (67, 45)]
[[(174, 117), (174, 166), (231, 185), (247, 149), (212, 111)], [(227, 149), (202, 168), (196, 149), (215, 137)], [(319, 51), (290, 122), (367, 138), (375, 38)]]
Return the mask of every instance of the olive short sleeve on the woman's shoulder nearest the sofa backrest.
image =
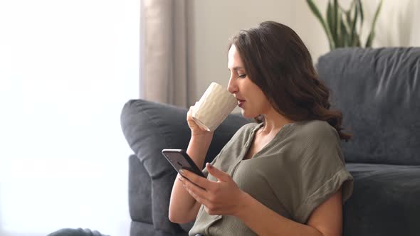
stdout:
[(340, 138), (333, 127), (320, 125), (306, 136), (300, 161), (300, 204), (295, 220), (305, 224), (319, 205), (342, 188), (342, 203), (353, 191), (353, 177), (345, 169)]

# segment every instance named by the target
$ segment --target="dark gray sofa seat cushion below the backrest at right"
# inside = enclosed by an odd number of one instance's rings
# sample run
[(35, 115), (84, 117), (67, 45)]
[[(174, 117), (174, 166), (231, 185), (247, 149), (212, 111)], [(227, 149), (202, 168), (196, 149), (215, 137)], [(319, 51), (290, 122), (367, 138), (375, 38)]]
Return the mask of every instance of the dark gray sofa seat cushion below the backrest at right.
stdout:
[(420, 166), (347, 163), (354, 178), (344, 235), (419, 235)]

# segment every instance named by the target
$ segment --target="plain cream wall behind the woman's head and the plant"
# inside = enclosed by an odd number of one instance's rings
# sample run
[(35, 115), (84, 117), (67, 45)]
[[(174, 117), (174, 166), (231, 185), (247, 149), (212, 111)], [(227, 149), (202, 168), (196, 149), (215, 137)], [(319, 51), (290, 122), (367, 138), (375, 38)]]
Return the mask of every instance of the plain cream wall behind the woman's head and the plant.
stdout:
[[(327, 0), (315, 0), (324, 11)], [(350, 1), (341, 1), (347, 6)], [(379, 0), (364, 1), (365, 21), (371, 22)], [(313, 60), (329, 51), (327, 38), (305, 0), (190, 0), (188, 1), (189, 97), (190, 104), (211, 82), (226, 86), (227, 43), (230, 36), (242, 28), (256, 26), (261, 21), (278, 21), (293, 28), (308, 46)], [(379, 15), (374, 47), (420, 46), (420, 11), (416, 0), (384, 0)], [(370, 26), (364, 26), (366, 38)], [(365, 39), (363, 39), (365, 41)]]

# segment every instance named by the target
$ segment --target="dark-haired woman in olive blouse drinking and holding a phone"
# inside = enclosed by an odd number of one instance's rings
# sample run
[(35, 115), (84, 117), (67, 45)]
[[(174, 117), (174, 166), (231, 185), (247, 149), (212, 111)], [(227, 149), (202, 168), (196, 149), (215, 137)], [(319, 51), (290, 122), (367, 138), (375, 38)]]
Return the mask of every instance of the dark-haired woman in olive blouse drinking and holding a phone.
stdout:
[[(341, 235), (342, 203), (352, 193), (340, 139), (342, 114), (330, 110), (308, 49), (273, 21), (231, 38), (228, 90), (243, 117), (201, 178), (189, 171), (172, 188), (169, 220), (196, 220), (189, 235)], [(187, 121), (187, 153), (204, 164), (213, 133)], [(183, 177), (184, 176), (184, 177)]]

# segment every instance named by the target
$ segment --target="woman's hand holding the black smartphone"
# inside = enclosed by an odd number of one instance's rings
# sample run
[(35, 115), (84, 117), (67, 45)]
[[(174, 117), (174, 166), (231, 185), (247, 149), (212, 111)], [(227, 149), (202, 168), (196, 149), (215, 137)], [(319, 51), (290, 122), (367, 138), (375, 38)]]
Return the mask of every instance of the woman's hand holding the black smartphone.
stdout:
[(179, 181), (195, 200), (204, 205), (209, 215), (238, 215), (243, 209), (246, 193), (241, 191), (228, 173), (210, 163), (206, 167), (218, 181), (209, 181), (187, 170), (182, 171), (185, 178), (180, 177)]

